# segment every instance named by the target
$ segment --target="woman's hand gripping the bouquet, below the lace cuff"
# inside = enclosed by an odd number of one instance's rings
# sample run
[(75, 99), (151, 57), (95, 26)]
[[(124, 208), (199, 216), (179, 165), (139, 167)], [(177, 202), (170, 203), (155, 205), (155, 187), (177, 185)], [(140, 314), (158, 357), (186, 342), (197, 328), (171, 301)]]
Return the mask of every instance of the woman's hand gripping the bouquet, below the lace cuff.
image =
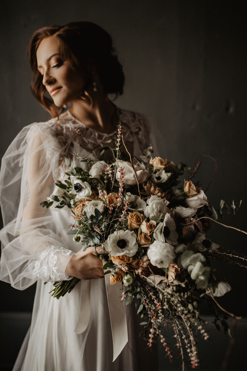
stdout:
[(71, 256), (66, 266), (65, 273), (68, 276), (79, 279), (103, 278), (103, 261), (94, 252), (94, 247), (87, 247), (85, 251), (78, 251)]

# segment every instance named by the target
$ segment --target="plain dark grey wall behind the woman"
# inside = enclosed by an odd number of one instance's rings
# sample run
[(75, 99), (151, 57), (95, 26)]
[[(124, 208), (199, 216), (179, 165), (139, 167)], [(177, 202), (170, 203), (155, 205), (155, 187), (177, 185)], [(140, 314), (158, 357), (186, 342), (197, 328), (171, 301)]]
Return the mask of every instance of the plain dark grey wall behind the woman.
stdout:
[[(9, 1), (1, 8), (0, 156), (25, 125), (49, 114), (31, 95), (26, 47), (43, 26), (89, 20), (113, 37), (126, 75), (115, 103), (150, 117), (160, 156), (201, 166), (194, 180), (218, 208), (242, 200), (224, 224), (246, 226), (246, 14), (240, 1)], [(82, 46), (83, 47), (83, 46)], [(155, 129), (155, 130), (156, 130)], [(245, 253), (247, 236), (212, 222), (208, 238)], [(233, 290), (219, 302), (246, 315), (246, 272), (212, 262)], [(35, 285), (23, 292), (0, 282), (1, 312), (30, 312)], [(206, 312), (205, 312), (206, 314)]]

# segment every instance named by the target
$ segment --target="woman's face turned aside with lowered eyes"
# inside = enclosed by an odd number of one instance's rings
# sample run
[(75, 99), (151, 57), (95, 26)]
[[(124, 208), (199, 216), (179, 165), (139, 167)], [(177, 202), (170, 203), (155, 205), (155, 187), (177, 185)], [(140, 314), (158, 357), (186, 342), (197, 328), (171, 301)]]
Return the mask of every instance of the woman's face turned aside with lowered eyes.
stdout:
[(74, 72), (68, 60), (63, 60), (60, 42), (55, 35), (43, 39), (36, 53), (38, 70), (43, 76), (43, 85), (58, 107), (79, 99), (84, 91), (83, 76)]

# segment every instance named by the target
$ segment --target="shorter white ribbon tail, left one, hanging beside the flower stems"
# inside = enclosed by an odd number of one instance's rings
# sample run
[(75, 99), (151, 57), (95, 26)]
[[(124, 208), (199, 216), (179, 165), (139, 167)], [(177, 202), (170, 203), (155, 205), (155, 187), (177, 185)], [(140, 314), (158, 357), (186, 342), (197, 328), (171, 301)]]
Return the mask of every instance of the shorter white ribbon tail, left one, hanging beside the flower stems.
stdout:
[(74, 332), (81, 334), (89, 324), (90, 319), (90, 280), (81, 280), (80, 312)]

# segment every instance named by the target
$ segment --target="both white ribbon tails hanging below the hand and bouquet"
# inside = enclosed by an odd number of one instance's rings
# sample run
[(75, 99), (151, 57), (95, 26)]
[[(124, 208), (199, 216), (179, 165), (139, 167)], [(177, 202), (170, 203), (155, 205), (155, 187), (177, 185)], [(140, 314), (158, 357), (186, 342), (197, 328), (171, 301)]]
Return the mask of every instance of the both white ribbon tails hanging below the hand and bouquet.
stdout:
[[(103, 264), (106, 261), (103, 260)], [(111, 320), (111, 334), (113, 341), (113, 361), (119, 356), (124, 346), (128, 342), (127, 321), (124, 303), (121, 302), (121, 285), (110, 283), (110, 273), (105, 275), (107, 301)], [(89, 324), (90, 319), (90, 280), (81, 280), (81, 299), (80, 311), (76, 334), (84, 332)]]

